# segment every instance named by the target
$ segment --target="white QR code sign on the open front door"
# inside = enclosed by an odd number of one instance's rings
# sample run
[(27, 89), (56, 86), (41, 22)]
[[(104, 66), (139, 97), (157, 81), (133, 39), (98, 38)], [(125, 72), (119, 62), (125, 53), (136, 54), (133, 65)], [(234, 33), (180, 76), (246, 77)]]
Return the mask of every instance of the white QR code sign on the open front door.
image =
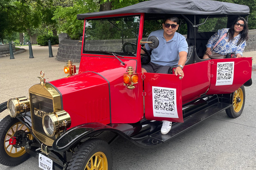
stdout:
[(152, 86), (154, 117), (179, 118), (176, 89)]

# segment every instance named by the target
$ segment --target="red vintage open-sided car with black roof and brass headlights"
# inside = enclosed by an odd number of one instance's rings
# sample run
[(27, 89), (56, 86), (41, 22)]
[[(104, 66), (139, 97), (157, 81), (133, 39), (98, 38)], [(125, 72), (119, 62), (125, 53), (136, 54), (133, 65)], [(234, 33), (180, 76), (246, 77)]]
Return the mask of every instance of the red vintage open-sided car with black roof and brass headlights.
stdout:
[[(213, 33), (249, 11), (216, 1), (153, 0), (78, 14), (84, 20), (78, 73), (71, 61), (66, 78), (45, 82), (42, 71), (28, 98), (1, 104), (0, 111), (7, 107), (10, 115), (0, 122), (0, 163), (15, 166), (33, 155), (43, 169), (112, 169), (109, 144), (117, 137), (154, 147), (223, 110), (231, 118), (240, 116), (244, 86), (252, 84), (252, 58), (202, 57)], [(142, 74), (150, 54), (141, 46), (157, 48), (157, 38), (148, 35), (170, 14), (186, 32), (185, 77), (174, 75), (175, 67), (170, 74)], [(174, 122), (165, 135), (163, 120)], [(106, 132), (115, 135), (102, 140)]]

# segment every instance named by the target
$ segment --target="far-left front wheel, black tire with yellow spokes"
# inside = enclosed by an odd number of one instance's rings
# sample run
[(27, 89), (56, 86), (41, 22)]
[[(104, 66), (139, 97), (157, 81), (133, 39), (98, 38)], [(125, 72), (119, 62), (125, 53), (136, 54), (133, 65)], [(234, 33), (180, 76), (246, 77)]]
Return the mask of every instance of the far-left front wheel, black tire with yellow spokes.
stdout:
[[(17, 130), (29, 132), (29, 129), (17, 118), (12, 118), (9, 115), (0, 122), (0, 164), (16, 166), (30, 157), (24, 147), (14, 148), (9, 145), (9, 139)], [(29, 135), (29, 138), (32, 139), (32, 135)]]

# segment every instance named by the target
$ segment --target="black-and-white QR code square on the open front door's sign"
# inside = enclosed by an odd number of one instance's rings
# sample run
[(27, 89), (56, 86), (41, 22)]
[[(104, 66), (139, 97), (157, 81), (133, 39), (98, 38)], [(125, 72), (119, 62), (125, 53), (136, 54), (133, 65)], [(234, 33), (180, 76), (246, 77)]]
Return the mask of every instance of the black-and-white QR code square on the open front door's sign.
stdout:
[(154, 106), (156, 110), (175, 111), (174, 90), (154, 88)]

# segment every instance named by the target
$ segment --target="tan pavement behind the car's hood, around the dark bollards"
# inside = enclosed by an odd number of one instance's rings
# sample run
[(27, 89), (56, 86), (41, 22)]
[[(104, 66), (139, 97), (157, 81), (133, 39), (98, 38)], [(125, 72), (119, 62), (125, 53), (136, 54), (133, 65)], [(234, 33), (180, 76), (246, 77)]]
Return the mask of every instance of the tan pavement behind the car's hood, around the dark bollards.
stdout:
[[(39, 83), (41, 70), (44, 71), (46, 81), (65, 78), (63, 68), (66, 62), (56, 60), (58, 47), (52, 47), (54, 57), (49, 57), (48, 46), (32, 46), (34, 58), (29, 58), (28, 46), (22, 47), (26, 52), (0, 58), (0, 103), (14, 97), (28, 97), (28, 89)], [(79, 63), (76, 63), (79, 66)], [(0, 114), (0, 118), (7, 115), (7, 110)]]

